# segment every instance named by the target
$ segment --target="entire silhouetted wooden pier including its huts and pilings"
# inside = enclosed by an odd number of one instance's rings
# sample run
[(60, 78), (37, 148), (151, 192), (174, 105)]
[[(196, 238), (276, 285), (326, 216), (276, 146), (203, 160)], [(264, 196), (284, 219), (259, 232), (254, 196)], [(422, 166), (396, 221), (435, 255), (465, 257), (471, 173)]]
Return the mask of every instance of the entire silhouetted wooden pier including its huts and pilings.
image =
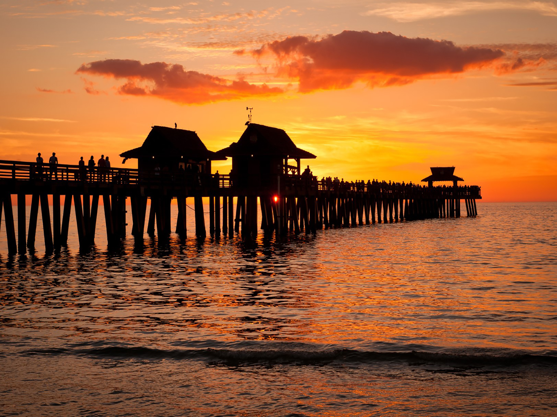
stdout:
[[(102, 157), (99, 166), (94, 166), (92, 157), (91, 166), (84, 161), (82, 165), (55, 166), (0, 161), (0, 217), (3, 211), (8, 252), (25, 254), (35, 246), (39, 206), (47, 252), (67, 244), (72, 207), (80, 247), (91, 245), (99, 201), (109, 245), (119, 244), (125, 236), (128, 207), (136, 240), (143, 241), (145, 232), (153, 235), (155, 230), (159, 238), (172, 231), (185, 238), (188, 197), (194, 199), (199, 238), (207, 236), (203, 198), (209, 200), (209, 234), (216, 237), (236, 233), (250, 238), (258, 229), (277, 236), (310, 234), (323, 228), (460, 217), (462, 201), (467, 216), (477, 215), (480, 187), (458, 186), (463, 180), (453, 175), (454, 167), (431, 168), (432, 175), (422, 180), (427, 187), (340, 182), (330, 177), (317, 181), (309, 166), (303, 173), (300, 169), (302, 158), (316, 156), (298, 148), (284, 130), (246, 125), (237, 142), (218, 152), (209, 151), (194, 131), (153, 126), (143, 145), (120, 154), (124, 162), (137, 158), (138, 169), (106, 167)], [(231, 173), (212, 174), (211, 161), (227, 157), (232, 157)], [(290, 165), (290, 160), (296, 165)], [(433, 186), (434, 181), (451, 181), (452, 186)], [(17, 237), (12, 195), (17, 196)], [(27, 196), (31, 196), (28, 225)], [(178, 206), (175, 225), (170, 224), (173, 200)]]

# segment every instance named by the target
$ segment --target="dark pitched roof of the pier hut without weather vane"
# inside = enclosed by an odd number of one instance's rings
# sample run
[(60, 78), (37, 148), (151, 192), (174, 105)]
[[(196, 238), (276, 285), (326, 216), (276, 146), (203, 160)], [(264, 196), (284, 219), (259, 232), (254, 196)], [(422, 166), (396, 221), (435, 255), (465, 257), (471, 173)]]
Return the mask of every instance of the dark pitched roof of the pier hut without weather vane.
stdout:
[(197, 133), (191, 130), (153, 126), (143, 145), (120, 153), (126, 159), (146, 156), (184, 156), (194, 160), (224, 160), (209, 151)]

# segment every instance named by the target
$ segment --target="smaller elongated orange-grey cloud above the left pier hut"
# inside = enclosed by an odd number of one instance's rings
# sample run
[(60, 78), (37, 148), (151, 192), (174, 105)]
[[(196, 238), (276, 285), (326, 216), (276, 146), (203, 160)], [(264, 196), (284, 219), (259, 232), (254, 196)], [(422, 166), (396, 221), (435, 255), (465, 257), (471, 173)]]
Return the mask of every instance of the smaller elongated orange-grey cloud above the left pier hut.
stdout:
[[(184, 104), (202, 104), (242, 97), (271, 96), (283, 93), (277, 87), (254, 85), (245, 80), (224, 78), (185, 71), (179, 64), (152, 62), (142, 64), (133, 59), (105, 59), (83, 64), (76, 73), (99, 75), (126, 82), (118, 87), (122, 95), (154, 96)], [(89, 81), (85, 80), (87, 83)], [(90, 87), (89, 85), (86, 85)], [(90, 91), (87, 91), (90, 92)]]

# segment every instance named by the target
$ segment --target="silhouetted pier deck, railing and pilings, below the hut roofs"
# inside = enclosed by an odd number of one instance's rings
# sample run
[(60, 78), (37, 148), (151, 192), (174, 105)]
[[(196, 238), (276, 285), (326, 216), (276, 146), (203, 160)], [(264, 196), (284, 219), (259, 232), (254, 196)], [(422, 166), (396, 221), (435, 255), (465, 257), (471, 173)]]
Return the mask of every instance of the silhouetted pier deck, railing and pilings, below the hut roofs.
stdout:
[[(209, 200), (209, 234), (232, 237), (237, 233), (247, 238), (259, 229), (279, 236), (375, 222), (460, 217), (462, 205), (467, 216), (475, 216), (476, 200), (481, 198), (477, 186), (333, 183), (299, 175), (280, 175), (270, 182), (261, 185), (229, 175), (123, 168), (58, 165), (51, 169), (36, 163), (0, 161), (0, 216), (3, 211), (9, 253), (25, 253), (35, 245), (39, 207), (45, 247), (52, 251), (67, 243), (72, 210), (80, 246), (93, 243), (100, 200), (109, 244), (118, 245), (130, 220), (126, 207), (131, 207), (135, 239), (143, 240), (145, 232), (155, 231), (159, 237), (174, 231), (185, 238), (188, 197), (194, 198), (195, 234), (201, 238), (207, 235), (203, 197)], [(12, 195), (17, 196), (17, 237)], [(31, 196), (28, 225), (26, 196)], [(174, 199), (178, 219), (171, 225)]]

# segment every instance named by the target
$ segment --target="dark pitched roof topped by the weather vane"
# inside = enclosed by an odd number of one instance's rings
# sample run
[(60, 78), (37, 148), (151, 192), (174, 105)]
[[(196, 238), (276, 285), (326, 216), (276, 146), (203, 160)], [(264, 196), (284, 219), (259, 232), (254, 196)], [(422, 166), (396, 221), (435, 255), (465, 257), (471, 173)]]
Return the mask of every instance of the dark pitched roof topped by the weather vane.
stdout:
[(222, 156), (282, 156), (289, 158), (316, 158), (297, 147), (282, 129), (250, 123), (237, 142), (217, 151)]

